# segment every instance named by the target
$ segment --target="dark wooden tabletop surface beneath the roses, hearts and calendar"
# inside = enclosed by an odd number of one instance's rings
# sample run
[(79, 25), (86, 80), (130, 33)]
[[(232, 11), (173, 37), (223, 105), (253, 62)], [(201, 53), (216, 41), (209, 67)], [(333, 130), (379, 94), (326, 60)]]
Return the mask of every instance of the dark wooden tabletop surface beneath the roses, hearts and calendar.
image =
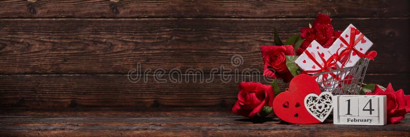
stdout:
[(333, 125), (331, 119), (323, 124), (295, 125), (274, 115), (251, 121), (230, 108), (2, 109), (0, 114), (0, 134), (5, 136), (410, 135), (409, 118), (385, 126)]

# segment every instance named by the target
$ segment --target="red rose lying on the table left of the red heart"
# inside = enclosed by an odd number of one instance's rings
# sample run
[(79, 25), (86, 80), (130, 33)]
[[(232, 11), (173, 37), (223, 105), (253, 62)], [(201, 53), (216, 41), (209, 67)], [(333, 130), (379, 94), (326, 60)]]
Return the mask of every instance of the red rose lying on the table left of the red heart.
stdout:
[(232, 108), (232, 112), (253, 118), (262, 110), (264, 105), (273, 106), (275, 97), (270, 85), (262, 85), (254, 82), (241, 82), (239, 84), (238, 101)]

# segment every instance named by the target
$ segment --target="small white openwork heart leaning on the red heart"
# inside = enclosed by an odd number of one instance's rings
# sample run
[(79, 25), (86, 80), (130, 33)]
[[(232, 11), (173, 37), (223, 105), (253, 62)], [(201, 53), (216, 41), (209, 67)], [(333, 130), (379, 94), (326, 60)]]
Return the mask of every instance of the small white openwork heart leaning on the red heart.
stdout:
[(331, 92), (322, 92), (318, 96), (310, 93), (304, 97), (304, 106), (317, 120), (323, 122), (333, 110)]

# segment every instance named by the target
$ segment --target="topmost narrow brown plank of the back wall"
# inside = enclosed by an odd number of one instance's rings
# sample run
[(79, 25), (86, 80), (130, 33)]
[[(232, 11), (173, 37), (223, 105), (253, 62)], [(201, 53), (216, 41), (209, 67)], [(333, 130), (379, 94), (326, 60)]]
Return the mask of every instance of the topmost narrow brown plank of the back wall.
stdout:
[(0, 18), (408, 17), (408, 1), (1, 1)]

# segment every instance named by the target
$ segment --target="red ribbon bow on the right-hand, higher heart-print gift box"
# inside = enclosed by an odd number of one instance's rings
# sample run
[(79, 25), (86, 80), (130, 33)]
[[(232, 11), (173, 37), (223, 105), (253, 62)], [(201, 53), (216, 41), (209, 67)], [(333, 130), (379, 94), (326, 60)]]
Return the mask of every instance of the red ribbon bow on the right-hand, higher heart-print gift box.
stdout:
[[(344, 40), (342, 36), (339, 36), (339, 40), (342, 41), (342, 43), (347, 46), (345, 47), (345, 49), (343, 49), (340, 52), (339, 55), (337, 55), (337, 60), (342, 62), (341, 68), (343, 68), (344, 65), (346, 65), (347, 61), (350, 59), (351, 51), (355, 52), (359, 57), (366, 57), (366, 58), (370, 58), (371, 60), (374, 60), (372, 56), (363, 54), (362, 52), (360, 52), (359, 50), (355, 48), (355, 46), (364, 37), (363, 33), (360, 34), (356, 40), (355, 40), (355, 36), (356, 36), (356, 28), (353, 28), (353, 27), (350, 28), (350, 43), (347, 43), (346, 40)], [(337, 49), (336, 53), (339, 53), (340, 48)]]

